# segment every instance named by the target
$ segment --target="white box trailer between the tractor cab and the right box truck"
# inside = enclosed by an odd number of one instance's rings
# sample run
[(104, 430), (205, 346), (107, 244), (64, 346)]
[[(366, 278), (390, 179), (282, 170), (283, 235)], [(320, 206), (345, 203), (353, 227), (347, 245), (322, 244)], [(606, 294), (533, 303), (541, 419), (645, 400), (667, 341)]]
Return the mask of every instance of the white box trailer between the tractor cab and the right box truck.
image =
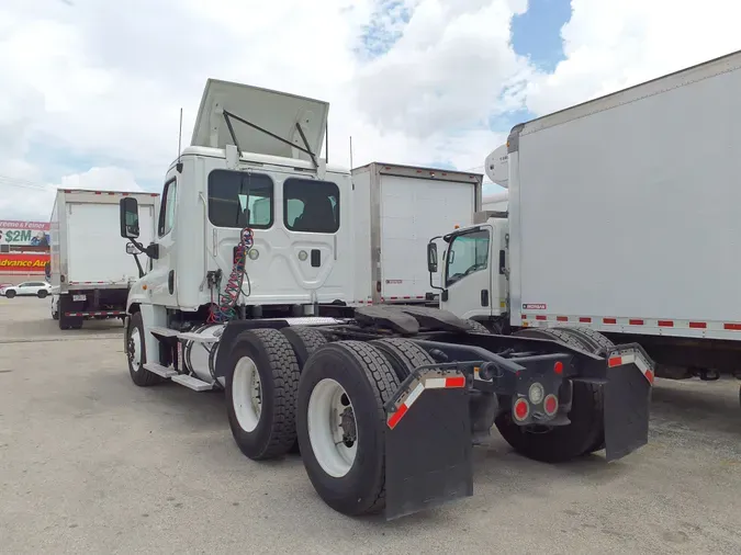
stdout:
[(472, 223), (482, 181), (471, 172), (382, 162), (353, 169), (356, 303), (431, 302), (427, 242)]

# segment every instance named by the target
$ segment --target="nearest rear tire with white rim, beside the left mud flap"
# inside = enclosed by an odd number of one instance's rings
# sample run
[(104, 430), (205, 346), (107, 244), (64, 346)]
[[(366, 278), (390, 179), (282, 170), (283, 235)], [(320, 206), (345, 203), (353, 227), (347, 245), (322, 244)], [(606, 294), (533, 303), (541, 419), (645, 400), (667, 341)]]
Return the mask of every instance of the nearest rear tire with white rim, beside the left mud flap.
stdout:
[[(338, 398), (343, 406), (352, 409), (355, 426), (350, 429), (357, 431), (356, 441), (351, 445), (346, 443), (345, 451), (337, 449), (327, 431), (336, 419), (329, 416), (328, 408), (323, 408), (323, 399), (336, 386), (347, 396), (347, 399), (341, 395)], [(370, 343), (329, 343), (317, 350), (304, 366), (299, 385), (297, 418), (302, 460), (319, 497), (343, 514), (371, 514), (385, 507), (383, 405), (397, 387), (398, 380), (391, 364)], [(350, 433), (347, 429), (344, 431)], [(341, 458), (341, 453), (351, 452), (352, 446), (351, 460)]]

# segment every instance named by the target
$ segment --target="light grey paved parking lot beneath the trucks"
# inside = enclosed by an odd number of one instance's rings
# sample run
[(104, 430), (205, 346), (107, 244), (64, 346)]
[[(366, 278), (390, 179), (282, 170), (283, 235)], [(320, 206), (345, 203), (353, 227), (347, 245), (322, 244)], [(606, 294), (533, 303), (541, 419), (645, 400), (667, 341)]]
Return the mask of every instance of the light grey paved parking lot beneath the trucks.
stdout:
[(738, 383), (665, 383), (651, 442), (550, 466), (498, 437), (474, 497), (386, 523), (316, 496), (301, 460), (254, 463), (223, 396), (131, 383), (120, 321), (61, 332), (0, 298), (0, 553), (741, 553)]

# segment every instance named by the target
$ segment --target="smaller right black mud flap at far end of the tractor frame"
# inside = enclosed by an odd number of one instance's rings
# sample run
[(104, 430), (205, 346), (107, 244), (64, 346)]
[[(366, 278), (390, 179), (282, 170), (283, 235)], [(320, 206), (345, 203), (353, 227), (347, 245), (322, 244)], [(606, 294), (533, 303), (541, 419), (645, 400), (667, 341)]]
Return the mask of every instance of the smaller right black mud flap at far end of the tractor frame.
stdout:
[(639, 346), (620, 346), (607, 359), (604, 388), (607, 461), (621, 458), (649, 441), (649, 405), (654, 364)]

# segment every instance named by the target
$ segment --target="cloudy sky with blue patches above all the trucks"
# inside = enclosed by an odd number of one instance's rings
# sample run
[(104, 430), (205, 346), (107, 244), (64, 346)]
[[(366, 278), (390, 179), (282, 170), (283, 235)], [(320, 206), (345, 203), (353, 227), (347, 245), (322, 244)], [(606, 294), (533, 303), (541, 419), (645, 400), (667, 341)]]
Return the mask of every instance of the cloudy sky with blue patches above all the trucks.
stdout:
[[(159, 191), (209, 77), (330, 102), (330, 159), (483, 172), (521, 121), (741, 49), (741, 2), (2, 0), (0, 219)], [(489, 185), (494, 191), (495, 185)]]

